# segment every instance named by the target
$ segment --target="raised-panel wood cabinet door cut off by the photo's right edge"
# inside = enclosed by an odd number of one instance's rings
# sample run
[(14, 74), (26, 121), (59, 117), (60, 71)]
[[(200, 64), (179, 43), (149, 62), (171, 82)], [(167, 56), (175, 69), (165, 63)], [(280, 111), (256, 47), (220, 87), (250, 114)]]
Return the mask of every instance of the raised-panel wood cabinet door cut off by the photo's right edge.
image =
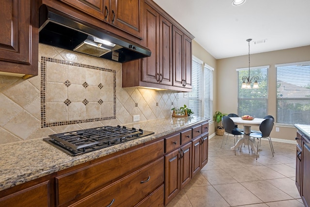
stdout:
[(305, 206), (310, 205), (310, 142), (303, 137), (302, 147), (302, 190), (301, 198), (304, 201)]

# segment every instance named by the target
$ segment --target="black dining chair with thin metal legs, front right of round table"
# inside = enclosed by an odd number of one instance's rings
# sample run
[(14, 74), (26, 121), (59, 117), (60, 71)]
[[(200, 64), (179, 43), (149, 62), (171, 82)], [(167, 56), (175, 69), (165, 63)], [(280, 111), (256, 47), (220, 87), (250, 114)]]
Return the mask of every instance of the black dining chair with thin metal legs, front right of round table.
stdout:
[[(274, 157), (273, 153), (275, 152), (273, 149), (273, 145), (271, 142), (271, 138), (270, 138), (270, 133), (271, 130), (273, 128), (274, 125), (274, 119), (273, 118), (267, 118), (265, 120), (263, 120), (263, 122), (260, 124), (260, 132), (254, 132), (254, 133), (250, 133), (249, 136), (253, 137), (254, 139), (257, 139), (257, 152), (258, 152), (258, 143), (262, 138), (266, 138), (269, 140), (269, 144), (270, 144), (270, 149), (271, 149), (271, 153), (272, 153), (272, 157)], [(257, 153), (258, 154), (258, 153)], [(256, 154), (256, 159), (257, 159), (257, 154)]]

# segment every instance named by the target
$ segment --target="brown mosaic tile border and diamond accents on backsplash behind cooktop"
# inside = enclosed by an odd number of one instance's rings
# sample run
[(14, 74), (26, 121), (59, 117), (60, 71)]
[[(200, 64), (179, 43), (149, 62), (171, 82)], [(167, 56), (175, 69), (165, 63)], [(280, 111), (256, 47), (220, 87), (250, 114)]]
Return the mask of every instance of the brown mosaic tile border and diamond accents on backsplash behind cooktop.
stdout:
[[(47, 119), (47, 63), (56, 63), (56, 64), (62, 64), (62, 65), (67, 65), (68, 67), (70, 66), (75, 66), (75, 67), (81, 67), (85, 69), (93, 69), (93, 70), (98, 70), (98, 71), (104, 71), (108, 73), (112, 73), (113, 76), (113, 86), (108, 86), (108, 87), (113, 87), (113, 100), (108, 100), (108, 103), (113, 104), (113, 115), (112, 116), (106, 116), (106, 117), (93, 117), (93, 118), (84, 118), (84, 119), (76, 119), (76, 120), (57, 120), (57, 121), (48, 121)], [(72, 81), (66, 80), (63, 81), (63, 83), (66, 88), (69, 88), (72, 85)], [(76, 84), (78, 85), (78, 84)], [(89, 87), (89, 83), (87, 83), (87, 80), (84, 83), (80, 84), (83, 88)], [(97, 87), (99, 90), (103, 89), (105, 86), (100, 82)], [(104, 89), (103, 89), (104, 90)], [(62, 92), (59, 92), (62, 93)], [(85, 92), (86, 93), (86, 92)], [(56, 93), (55, 93), (56, 94)], [(59, 59), (54, 59), (54, 58), (47, 58), (44, 56), (41, 56), (41, 128), (45, 127), (54, 127), (54, 126), (63, 126), (63, 125), (70, 125), (70, 124), (79, 124), (79, 123), (87, 123), (87, 122), (96, 122), (96, 121), (103, 121), (103, 120), (111, 120), (111, 119), (116, 119), (116, 71), (112, 69), (106, 69), (106, 68), (101, 68), (93, 65), (88, 65), (88, 64), (79, 64), (79, 63), (74, 63), (71, 61), (64, 61), (64, 60), (59, 60)], [(63, 96), (63, 95), (62, 95)], [(68, 96), (68, 94), (66, 94)], [(96, 104), (101, 106), (104, 101), (104, 98), (98, 97), (98, 100), (95, 101)], [(86, 98), (83, 100), (80, 100), (80, 102), (86, 107), (87, 104), (90, 103), (89, 100)], [(93, 101), (94, 102), (94, 101)], [(58, 103), (58, 102), (57, 102)], [(68, 106), (72, 103), (69, 97), (65, 98), (63, 100), (63, 104), (65, 107), (68, 108)], [(112, 107), (112, 106), (111, 106)]]

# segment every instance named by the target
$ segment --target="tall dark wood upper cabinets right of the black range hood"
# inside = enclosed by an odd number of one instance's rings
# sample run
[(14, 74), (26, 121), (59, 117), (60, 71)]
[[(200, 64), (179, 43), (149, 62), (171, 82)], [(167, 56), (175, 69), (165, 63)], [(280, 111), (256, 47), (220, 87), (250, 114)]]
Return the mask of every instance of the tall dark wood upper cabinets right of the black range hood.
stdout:
[[(154, 1), (145, 0), (143, 11), (141, 44), (149, 48), (152, 55), (123, 64), (123, 87), (139, 86), (190, 92), (191, 41), (194, 37), (185, 29), (178, 29), (182, 27)], [(175, 25), (178, 25), (178, 28)]]

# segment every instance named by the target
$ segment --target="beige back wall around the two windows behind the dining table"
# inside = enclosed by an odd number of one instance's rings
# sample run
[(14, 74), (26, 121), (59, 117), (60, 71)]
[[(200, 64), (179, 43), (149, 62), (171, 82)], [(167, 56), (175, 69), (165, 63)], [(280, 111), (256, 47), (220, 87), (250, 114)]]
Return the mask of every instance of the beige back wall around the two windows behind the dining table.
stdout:
[[(268, 71), (268, 114), (276, 117), (276, 68), (275, 64), (310, 61), (310, 46), (283, 49), (250, 55), (251, 67), (270, 65)], [(217, 60), (217, 81), (215, 96), (216, 109), (225, 113), (237, 113), (237, 73), (236, 68), (248, 67), (248, 55)], [(279, 127), (279, 132), (275, 128)], [(271, 137), (293, 140), (294, 127), (277, 126)]]

